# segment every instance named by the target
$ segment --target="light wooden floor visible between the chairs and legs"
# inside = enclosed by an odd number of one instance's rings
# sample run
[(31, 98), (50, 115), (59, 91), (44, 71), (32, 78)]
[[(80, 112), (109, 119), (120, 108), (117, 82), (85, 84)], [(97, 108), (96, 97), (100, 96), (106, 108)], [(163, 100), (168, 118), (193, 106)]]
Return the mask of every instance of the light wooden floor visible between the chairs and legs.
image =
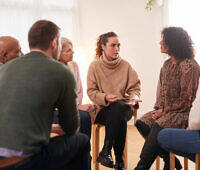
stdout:
[[(101, 147), (103, 146), (103, 140), (104, 140), (104, 128), (101, 129), (100, 132), (101, 136)], [(135, 126), (129, 125), (128, 126), (128, 169), (127, 170), (134, 170), (134, 168), (137, 165), (137, 162), (139, 161), (139, 155), (140, 151), (142, 149), (142, 146), (144, 144), (144, 139), (140, 136)], [(114, 154), (112, 153), (113, 159)], [(181, 161), (183, 165), (183, 158), (179, 157), (179, 160)], [(163, 169), (163, 162), (161, 160), (161, 166), (160, 170)], [(194, 163), (189, 161), (189, 170), (194, 170)], [(94, 165), (92, 165), (92, 170), (94, 169)], [(105, 166), (100, 165), (100, 170), (111, 170), (110, 168), (106, 168)], [(152, 165), (151, 170), (156, 170), (155, 163)]]

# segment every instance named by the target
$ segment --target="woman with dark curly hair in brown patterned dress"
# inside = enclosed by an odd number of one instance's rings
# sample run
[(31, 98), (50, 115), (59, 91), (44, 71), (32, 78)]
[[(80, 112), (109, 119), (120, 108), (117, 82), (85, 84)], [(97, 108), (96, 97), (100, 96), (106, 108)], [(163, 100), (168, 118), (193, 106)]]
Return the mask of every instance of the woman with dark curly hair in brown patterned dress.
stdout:
[[(169, 170), (169, 153), (159, 147), (157, 135), (164, 128), (187, 127), (198, 88), (199, 65), (194, 60), (193, 43), (188, 33), (180, 27), (167, 27), (161, 35), (161, 53), (170, 58), (160, 71), (154, 110), (144, 114), (135, 124), (145, 138), (135, 170), (148, 170), (158, 155), (164, 159), (164, 170)], [(176, 169), (182, 168), (178, 159), (175, 163)]]

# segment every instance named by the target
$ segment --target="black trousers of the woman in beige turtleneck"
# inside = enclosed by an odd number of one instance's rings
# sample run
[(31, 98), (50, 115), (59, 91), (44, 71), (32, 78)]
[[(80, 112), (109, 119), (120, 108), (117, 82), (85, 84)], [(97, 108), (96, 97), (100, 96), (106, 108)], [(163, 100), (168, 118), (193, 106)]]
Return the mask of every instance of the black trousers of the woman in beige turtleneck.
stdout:
[(116, 160), (122, 159), (127, 130), (127, 120), (132, 117), (132, 108), (119, 100), (103, 108), (95, 123), (105, 125), (105, 142), (112, 142)]

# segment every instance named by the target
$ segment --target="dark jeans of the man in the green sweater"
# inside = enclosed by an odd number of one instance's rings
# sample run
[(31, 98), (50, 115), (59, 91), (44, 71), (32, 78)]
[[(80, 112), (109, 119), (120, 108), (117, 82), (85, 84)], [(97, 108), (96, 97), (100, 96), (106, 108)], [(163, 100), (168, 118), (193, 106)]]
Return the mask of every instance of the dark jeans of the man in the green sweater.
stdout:
[(42, 151), (2, 170), (88, 170), (90, 141), (84, 134), (57, 136)]

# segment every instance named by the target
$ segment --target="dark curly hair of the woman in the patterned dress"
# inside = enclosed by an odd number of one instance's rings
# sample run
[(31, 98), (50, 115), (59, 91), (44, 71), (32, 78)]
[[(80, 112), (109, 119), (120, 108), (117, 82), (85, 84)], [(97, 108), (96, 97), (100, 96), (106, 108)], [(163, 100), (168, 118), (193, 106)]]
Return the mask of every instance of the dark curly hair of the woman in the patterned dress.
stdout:
[(181, 27), (166, 27), (162, 30), (164, 46), (168, 54), (181, 61), (194, 58), (194, 47), (191, 37)]

